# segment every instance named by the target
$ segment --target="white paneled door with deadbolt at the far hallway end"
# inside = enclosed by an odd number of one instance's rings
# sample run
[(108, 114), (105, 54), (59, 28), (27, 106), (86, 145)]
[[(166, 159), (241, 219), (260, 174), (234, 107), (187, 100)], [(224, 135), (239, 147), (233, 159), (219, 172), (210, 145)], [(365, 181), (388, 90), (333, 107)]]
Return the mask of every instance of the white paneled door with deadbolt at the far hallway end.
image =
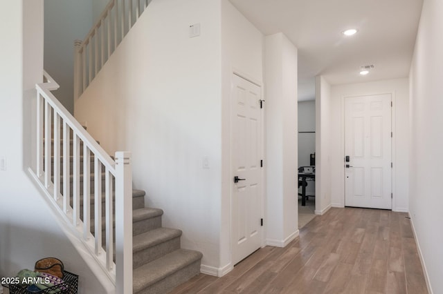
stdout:
[(345, 206), (392, 208), (391, 107), (390, 94), (345, 98)]

